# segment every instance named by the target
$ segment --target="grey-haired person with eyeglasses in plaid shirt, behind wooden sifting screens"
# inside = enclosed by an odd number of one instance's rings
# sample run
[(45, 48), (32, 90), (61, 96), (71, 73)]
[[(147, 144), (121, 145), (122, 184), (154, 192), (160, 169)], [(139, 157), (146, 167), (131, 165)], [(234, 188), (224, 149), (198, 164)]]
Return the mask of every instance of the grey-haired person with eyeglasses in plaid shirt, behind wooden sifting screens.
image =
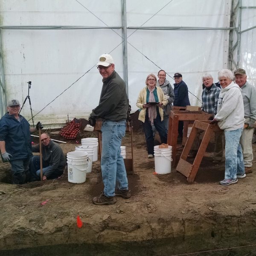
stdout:
[[(204, 90), (202, 92), (202, 106), (201, 110), (213, 114), (213, 117), (217, 114), (218, 96), (221, 89), (213, 83), (212, 75), (204, 74), (203, 76)], [(201, 132), (198, 131), (197, 137), (195, 137), (194, 143), (191, 148), (191, 153), (188, 155), (189, 158), (196, 156), (199, 148), (199, 137)], [(222, 161), (223, 156), (223, 142), (222, 132), (215, 132), (215, 148), (214, 157), (212, 163), (219, 163)]]

